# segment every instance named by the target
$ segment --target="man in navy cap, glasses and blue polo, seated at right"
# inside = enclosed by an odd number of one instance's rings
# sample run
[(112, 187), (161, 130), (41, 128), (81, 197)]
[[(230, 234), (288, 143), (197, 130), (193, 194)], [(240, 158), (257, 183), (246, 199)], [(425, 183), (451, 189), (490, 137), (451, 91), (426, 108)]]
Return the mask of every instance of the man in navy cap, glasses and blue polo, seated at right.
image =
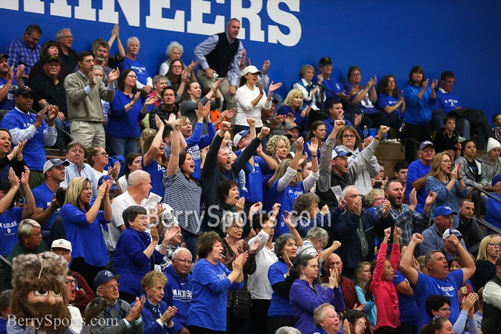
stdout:
[(417, 206), (415, 211), (423, 213), (424, 203), (428, 196), (426, 190), (426, 179), (431, 168), (431, 161), (435, 157), (435, 146), (431, 141), (423, 141), (420, 145), (420, 150), (417, 153), (419, 159), (413, 161), (408, 167), (406, 198), (410, 203), (409, 194), (413, 188), (416, 189)]

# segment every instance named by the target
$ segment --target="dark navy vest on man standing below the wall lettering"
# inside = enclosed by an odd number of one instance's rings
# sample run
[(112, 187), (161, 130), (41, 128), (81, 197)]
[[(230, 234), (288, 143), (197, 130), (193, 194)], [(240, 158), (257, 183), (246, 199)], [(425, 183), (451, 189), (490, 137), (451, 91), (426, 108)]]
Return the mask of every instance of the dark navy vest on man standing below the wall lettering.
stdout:
[(215, 70), (219, 77), (226, 77), (230, 70), (230, 63), (237, 54), (240, 41), (238, 38), (235, 38), (232, 44), (230, 44), (226, 33), (218, 33), (217, 36), (219, 38), (218, 44), (205, 58), (209, 67)]

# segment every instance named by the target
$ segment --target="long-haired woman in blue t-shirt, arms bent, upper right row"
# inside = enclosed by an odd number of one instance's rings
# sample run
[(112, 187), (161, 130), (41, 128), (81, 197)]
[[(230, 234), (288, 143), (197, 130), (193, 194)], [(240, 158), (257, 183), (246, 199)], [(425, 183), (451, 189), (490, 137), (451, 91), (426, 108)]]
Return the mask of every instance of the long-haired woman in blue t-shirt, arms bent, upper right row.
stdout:
[(399, 94), (395, 77), (393, 74), (388, 74), (379, 81), (376, 89), (377, 104), (379, 110), (386, 113), (388, 117), (388, 125), (395, 129), (400, 129), (400, 116), (405, 111), (404, 95)]

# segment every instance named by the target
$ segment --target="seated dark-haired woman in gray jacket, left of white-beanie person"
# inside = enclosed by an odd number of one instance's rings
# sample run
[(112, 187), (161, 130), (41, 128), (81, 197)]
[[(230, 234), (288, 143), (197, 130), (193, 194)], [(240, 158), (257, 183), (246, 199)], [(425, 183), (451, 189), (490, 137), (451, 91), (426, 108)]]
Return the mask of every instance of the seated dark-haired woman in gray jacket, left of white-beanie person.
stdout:
[[(480, 183), (482, 177), (482, 162), (477, 159), (477, 146), (474, 141), (465, 141), (461, 143), (461, 156), (456, 157), (454, 164), (463, 164), (461, 169), (461, 177), (463, 177), (466, 186), (478, 186), (479, 188), (487, 187), (488, 184)], [(487, 196), (479, 191), (472, 192), (473, 202), (479, 199), (483, 205), (487, 204)]]

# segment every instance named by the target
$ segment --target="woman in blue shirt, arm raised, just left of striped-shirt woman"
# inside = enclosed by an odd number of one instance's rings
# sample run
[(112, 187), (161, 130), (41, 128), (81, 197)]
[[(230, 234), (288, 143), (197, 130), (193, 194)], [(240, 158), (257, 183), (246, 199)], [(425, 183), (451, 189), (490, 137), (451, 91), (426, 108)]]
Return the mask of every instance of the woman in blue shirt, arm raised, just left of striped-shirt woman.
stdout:
[(157, 124), (157, 134), (148, 136), (143, 143), (143, 160), (141, 166), (145, 172), (150, 173), (152, 180), (152, 193), (156, 193), (164, 200), (164, 171), (168, 165), (168, 159), (165, 155), (164, 122), (155, 115), (155, 124)]

